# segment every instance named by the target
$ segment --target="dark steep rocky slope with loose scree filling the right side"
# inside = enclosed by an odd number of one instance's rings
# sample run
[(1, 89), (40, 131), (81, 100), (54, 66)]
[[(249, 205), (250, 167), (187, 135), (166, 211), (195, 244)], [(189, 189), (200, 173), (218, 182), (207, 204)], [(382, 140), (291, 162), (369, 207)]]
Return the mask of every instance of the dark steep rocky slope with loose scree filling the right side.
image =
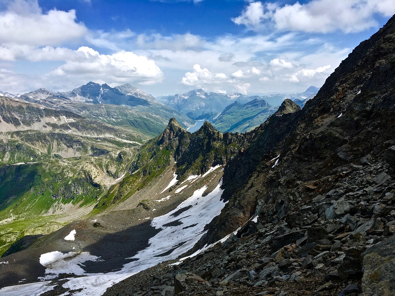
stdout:
[(392, 294), (394, 45), (392, 17), (301, 111), (246, 134), (225, 168), (229, 203), (196, 249), (236, 235), (106, 295)]

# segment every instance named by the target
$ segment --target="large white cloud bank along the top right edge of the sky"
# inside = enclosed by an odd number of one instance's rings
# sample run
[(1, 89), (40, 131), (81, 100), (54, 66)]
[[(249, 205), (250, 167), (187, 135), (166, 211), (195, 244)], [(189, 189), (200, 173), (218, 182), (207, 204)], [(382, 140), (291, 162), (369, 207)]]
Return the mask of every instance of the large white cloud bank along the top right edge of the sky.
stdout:
[(350, 33), (377, 26), (376, 14), (390, 17), (394, 13), (393, 0), (312, 0), (284, 6), (252, 2), (232, 21), (252, 30), (261, 30), (269, 21), (281, 31)]

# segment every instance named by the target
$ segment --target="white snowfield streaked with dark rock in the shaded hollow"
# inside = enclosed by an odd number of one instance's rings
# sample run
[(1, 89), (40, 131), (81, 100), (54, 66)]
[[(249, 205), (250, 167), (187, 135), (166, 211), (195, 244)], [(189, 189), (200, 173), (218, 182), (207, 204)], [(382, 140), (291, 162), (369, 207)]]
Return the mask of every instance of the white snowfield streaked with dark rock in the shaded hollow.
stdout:
[[(211, 168), (211, 171), (218, 167), (220, 166)], [(177, 179), (177, 175), (175, 175), (174, 179)], [(207, 189), (207, 186), (203, 186), (194, 191), (193, 195), (182, 202), (175, 210), (166, 215), (152, 219), (151, 225), (156, 229), (161, 229), (161, 231), (150, 238), (149, 247), (139, 251), (133, 257), (133, 259), (138, 260), (125, 264), (122, 270), (105, 274), (87, 274), (83, 270), (83, 263), (86, 261), (101, 261), (100, 258), (88, 252), (70, 252), (63, 254), (55, 251), (45, 253), (40, 257), (41, 265), (47, 268), (45, 270), (46, 276), (42, 278), (42, 280), (53, 279), (60, 273), (87, 275), (85, 277), (71, 278), (70, 281), (64, 283), (62, 287), (69, 288), (70, 290), (82, 288), (81, 291), (73, 293), (75, 296), (97, 296), (102, 295), (108, 287), (111, 287), (115, 283), (141, 270), (155, 266), (160, 262), (177, 258), (198, 242), (201, 236), (207, 232), (207, 230), (204, 230), (205, 226), (210, 223), (214, 217), (219, 215), (224, 208), (226, 202), (221, 200), (223, 192), (220, 188), (221, 185), (222, 179), (216, 188), (205, 197), (203, 197), (203, 193)], [(169, 187), (171, 187), (171, 185)], [(71, 234), (72, 233), (68, 236)], [(207, 249), (208, 247), (211, 247), (211, 245), (203, 249)], [(201, 251), (203, 251), (203, 249)], [(102, 262), (102, 264), (106, 264), (104, 260)], [(47, 286), (47, 284), (49, 284), (49, 286)], [(54, 284), (51, 284), (50, 281), (27, 285), (15, 285), (1, 289), (0, 295), (38, 296), (43, 292), (53, 289), (53, 285)]]

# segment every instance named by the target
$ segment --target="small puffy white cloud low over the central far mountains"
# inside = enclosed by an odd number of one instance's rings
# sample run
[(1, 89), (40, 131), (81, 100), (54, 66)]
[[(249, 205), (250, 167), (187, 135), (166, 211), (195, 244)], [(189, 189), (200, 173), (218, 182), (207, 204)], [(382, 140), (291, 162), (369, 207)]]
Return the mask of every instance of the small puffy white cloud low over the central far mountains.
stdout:
[(207, 84), (224, 82), (227, 79), (224, 73), (211, 73), (207, 68), (202, 69), (198, 64), (195, 64), (193, 69), (193, 72), (187, 72), (182, 77), (182, 84), (202, 87)]

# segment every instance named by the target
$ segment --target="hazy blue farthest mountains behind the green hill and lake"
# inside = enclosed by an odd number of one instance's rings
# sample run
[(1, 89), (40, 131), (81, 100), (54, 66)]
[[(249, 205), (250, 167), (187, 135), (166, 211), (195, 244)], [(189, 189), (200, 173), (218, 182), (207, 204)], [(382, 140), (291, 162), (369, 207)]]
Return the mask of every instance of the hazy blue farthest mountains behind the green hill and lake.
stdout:
[[(315, 96), (319, 88), (310, 86), (305, 92), (299, 94), (271, 94), (268, 96), (246, 96), (239, 93), (222, 94), (215, 92), (205, 92), (203, 89), (191, 90), (184, 94), (173, 96), (163, 96), (157, 99), (165, 105), (176, 109), (186, 116), (195, 120), (213, 120), (220, 112), (235, 103), (245, 104), (258, 99), (265, 100), (272, 106), (279, 106), (284, 99), (291, 99), (297, 105), (303, 107), (306, 101)], [(273, 111), (274, 112), (274, 111)]]

